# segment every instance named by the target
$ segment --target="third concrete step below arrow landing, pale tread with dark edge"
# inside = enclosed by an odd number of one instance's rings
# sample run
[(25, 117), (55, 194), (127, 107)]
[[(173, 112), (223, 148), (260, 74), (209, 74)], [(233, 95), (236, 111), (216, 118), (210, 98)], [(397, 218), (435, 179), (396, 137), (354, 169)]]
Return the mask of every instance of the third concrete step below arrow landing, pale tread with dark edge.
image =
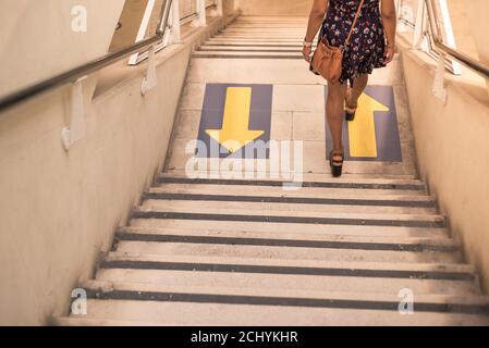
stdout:
[(307, 212), (295, 211), (244, 211), (223, 207), (209, 208), (144, 208), (133, 210), (133, 219), (173, 219), (200, 221), (242, 221), (266, 222), (279, 226), (281, 223), (295, 224), (329, 224), (329, 225), (362, 225), (362, 226), (406, 226), (406, 227), (445, 227), (445, 217), (438, 214), (367, 214), (351, 212)]

